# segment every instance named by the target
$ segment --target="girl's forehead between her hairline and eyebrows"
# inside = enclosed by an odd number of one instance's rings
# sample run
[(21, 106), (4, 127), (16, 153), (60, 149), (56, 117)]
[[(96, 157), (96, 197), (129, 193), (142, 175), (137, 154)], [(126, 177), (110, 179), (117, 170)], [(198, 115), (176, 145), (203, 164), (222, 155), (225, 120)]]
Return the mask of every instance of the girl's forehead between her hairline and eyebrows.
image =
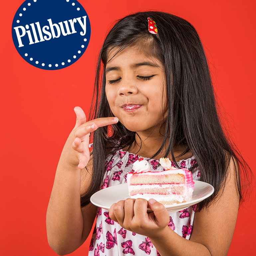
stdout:
[(111, 70), (121, 70), (120, 65), (128, 65), (132, 69), (138, 67), (151, 67), (163, 69), (163, 64), (154, 56), (136, 47), (127, 47), (121, 51), (113, 48), (108, 52), (105, 73)]

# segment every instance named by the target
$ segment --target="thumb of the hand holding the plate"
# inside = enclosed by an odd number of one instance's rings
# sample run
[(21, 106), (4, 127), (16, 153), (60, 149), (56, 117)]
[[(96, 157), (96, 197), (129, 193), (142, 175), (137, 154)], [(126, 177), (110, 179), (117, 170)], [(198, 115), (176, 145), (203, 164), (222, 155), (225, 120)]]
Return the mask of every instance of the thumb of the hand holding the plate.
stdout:
[(149, 208), (154, 212), (155, 219), (158, 222), (159, 226), (164, 227), (168, 225), (170, 221), (170, 216), (165, 206), (153, 198), (148, 200), (148, 205)]

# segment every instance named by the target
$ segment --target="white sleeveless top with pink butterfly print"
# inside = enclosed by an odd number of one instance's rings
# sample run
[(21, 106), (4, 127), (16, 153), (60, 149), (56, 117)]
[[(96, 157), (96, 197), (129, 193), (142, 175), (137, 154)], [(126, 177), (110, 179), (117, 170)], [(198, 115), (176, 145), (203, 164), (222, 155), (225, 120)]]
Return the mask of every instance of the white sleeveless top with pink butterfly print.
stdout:
[[(92, 146), (93, 143), (89, 145)], [(112, 160), (106, 158), (105, 175), (101, 189), (126, 183), (127, 173), (132, 171), (133, 163), (141, 156), (119, 150)], [(163, 171), (163, 167), (156, 159), (143, 157), (150, 163), (151, 171)], [(109, 162), (109, 164), (108, 164)], [(194, 157), (177, 162), (181, 168), (190, 168), (196, 161)], [(158, 165), (158, 166), (157, 166)], [(175, 163), (172, 161), (174, 167)], [(192, 174), (193, 180), (200, 179), (200, 170), (197, 168)], [(168, 226), (177, 234), (190, 239), (196, 204), (179, 212), (170, 213)], [(161, 256), (147, 236), (143, 236), (123, 229), (109, 217), (109, 210), (98, 207), (96, 224), (91, 237), (88, 256)]]

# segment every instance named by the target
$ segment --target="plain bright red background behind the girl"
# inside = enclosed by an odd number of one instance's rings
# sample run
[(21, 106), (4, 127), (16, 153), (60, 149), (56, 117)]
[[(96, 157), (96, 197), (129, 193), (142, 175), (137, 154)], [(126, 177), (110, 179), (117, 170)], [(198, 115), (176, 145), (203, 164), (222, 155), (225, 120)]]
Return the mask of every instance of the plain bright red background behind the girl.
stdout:
[[(12, 20), (22, 2), (1, 2), (1, 255), (56, 255), (47, 241), (46, 210), (60, 154), (75, 125), (73, 108), (88, 113), (106, 31), (132, 12), (166, 11), (196, 28), (223, 118), (255, 174), (255, 1), (80, 0), (91, 24), (88, 48), (77, 62), (55, 71), (28, 64), (14, 47)], [(228, 255), (255, 250), (253, 199), (239, 210)], [(72, 255), (87, 255), (89, 241)]]

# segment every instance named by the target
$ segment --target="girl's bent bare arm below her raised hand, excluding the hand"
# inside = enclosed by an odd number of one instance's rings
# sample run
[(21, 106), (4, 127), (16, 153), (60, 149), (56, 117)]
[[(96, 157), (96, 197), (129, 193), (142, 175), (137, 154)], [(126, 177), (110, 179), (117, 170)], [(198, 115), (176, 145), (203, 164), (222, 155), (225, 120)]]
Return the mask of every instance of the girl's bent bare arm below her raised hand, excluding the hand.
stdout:
[[(87, 164), (91, 173), (92, 155)], [(47, 239), (59, 255), (80, 247), (90, 233), (97, 206), (80, 207), (80, 194), (91, 180), (90, 174), (77, 167), (58, 166), (46, 213)]]

